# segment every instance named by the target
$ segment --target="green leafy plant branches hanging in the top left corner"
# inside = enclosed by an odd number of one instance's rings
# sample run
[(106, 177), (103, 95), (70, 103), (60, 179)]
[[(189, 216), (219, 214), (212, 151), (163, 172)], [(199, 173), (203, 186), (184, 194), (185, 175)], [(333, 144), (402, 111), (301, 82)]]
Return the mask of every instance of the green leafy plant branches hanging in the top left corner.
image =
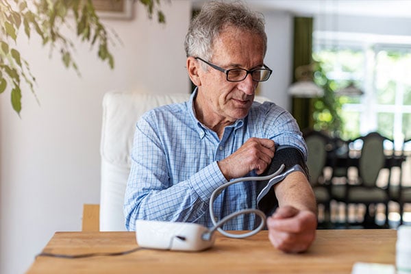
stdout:
[[(149, 18), (156, 11), (158, 22), (165, 22), (164, 14), (158, 10), (160, 0), (140, 2), (147, 7)], [(0, 93), (10, 92), (12, 107), (18, 115), (21, 112), (22, 79), (36, 97), (36, 78), (16, 49), (19, 32), (24, 31), (28, 39), (38, 35), (42, 45), (50, 48), (50, 54), (58, 51), (64, 66), (80, 75), (73, 58), (75, 46), (62, 34), (64, 27), (75, 31), (82, 42), (97, 47), (97, 57), (114, 69), (114, 58), (109, 49), (109, 42), (114, 41), (101, 23), (92, 0), (0, 0)]]

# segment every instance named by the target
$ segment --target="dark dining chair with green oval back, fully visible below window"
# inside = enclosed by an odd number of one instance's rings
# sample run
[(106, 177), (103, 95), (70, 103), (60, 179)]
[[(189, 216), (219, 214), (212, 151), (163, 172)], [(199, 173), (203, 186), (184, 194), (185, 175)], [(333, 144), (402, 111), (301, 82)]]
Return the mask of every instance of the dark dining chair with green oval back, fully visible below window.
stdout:
[[(345, 203), (345, 224), (347, 227), (349, 226), (350, 204), (363, 204), (365, 206), (366, 210), (363, 221), (356, 222), (356, 225), (361, 225), (364, 228), (377, 227), (375, 223), (376, 207), (378, 204), (384, 204), (386, 212), (384, 226), (388, 225), (388, 202), (390, 201), (390, 195), (388, 188), (377, 185), (379, 172), (384, 169), (386, 162), (386, 155), (384, 153), (384, 141), (386, 140), (390, 141), (377, 132), (371, 132), (366, 136), (350, 141), (350, 152), (359, 149), (356, 145), (362, 143), (360, 146), (360, 157), (353, 159), (358, 160), (356, 164), (358, 176), (353, 180), (347, 179), (347, 184), (340, 186), (340, 188), (344, 188), (344, 191), (332, 190), (332, 198)], [(347, 162), (352, 164), (353, 160)], [(374, 206), (373, 211), (370, 210), (371, 206)]]

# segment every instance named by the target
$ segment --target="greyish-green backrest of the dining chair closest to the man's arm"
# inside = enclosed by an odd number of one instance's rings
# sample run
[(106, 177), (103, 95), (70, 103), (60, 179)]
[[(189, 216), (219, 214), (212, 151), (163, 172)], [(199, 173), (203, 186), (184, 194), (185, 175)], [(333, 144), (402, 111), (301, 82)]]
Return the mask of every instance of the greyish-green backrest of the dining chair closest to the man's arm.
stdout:
[(310, 172), (310, 183), (312, 186), (319, 183), (327, 160), (328, 138), (325, 134), (316, 131), (304, 133), (308, 147), (307, 166)]

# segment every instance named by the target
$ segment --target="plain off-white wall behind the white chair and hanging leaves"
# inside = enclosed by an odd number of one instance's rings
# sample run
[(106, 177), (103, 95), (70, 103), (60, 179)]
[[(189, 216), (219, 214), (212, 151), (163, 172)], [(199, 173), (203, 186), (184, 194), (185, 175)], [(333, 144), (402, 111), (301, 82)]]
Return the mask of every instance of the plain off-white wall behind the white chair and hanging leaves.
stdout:
[(0, 273), (23, 273), (56, 231), (79, 231), (84, 203), (99, 203), (101, 100), (112, 89), (189, 92), (184, 36), (190, 1), (162, 2), (166, 25), (135, 5), (133, 21), (105, 20), (123, 41), (114, 71), (78, 44), (77, 77), (38, 40), (18, 39), (40, 105), (23, 90), (21, 119), (0, 95)]

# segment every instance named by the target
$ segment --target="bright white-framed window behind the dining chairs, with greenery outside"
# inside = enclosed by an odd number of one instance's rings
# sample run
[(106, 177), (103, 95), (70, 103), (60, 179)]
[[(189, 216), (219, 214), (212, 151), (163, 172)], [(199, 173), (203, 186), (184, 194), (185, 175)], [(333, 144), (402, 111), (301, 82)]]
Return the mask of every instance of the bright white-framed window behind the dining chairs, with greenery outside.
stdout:
[[(313, 58), (340, 106), (342, 138), (377, 131), (401, 144), (411, 138), (411, 39), (365, 36), (316, 32)], [(363, 95), (339, 95), (349, 84)]]

